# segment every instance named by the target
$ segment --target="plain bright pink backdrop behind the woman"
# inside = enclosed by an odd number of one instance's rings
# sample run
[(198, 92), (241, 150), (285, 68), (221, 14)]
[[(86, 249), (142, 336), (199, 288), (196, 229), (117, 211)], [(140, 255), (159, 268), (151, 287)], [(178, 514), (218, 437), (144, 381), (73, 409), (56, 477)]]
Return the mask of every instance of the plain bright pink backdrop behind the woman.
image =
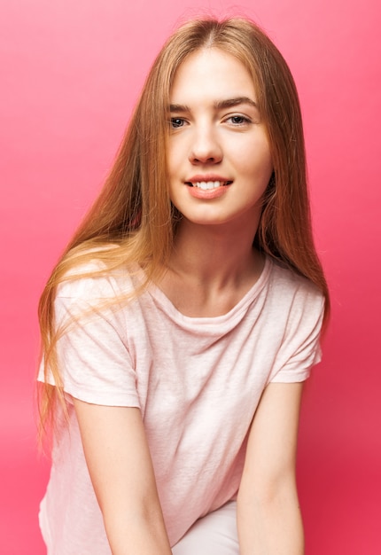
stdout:
[[(0, 552), (42, 555), (33, 380), (36, 305), (102, 184), (144, 75), (210, 0), (0, 1)], [(288, 60), (305, 119), (315, 237), (332, 293), (307, 385), (299, 489), (307, 555), (380, 552), (378, 0), (241, 0)]]

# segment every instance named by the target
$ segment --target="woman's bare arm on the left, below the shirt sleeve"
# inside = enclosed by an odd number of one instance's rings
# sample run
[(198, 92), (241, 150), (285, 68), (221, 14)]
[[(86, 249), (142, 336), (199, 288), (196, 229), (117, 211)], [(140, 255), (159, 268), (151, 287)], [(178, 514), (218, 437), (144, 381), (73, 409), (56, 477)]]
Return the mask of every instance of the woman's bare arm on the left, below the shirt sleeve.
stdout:
[(140, 410), (74, 408), (113, 555), (170, 555)]

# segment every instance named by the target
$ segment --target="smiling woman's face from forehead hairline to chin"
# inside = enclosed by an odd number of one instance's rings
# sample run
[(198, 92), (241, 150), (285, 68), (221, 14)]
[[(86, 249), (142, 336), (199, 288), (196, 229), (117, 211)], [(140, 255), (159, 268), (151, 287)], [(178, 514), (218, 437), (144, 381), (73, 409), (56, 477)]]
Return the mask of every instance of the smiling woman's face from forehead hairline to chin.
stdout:
[(258, 222), (273, 167), (245, 66), (217, 48), (191, 54), (175, 74), (170, 117), (175, 207), (192, 223)]

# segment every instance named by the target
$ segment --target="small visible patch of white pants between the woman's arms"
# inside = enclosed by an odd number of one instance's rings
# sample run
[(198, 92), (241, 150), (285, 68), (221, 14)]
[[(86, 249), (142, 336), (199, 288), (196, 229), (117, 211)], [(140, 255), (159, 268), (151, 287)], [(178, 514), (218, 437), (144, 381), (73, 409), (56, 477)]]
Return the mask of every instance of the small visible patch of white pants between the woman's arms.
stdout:
[(197, 520), (172, 548), (173, 555), (238, 555), (236, 511), (236, 502), (229, 501)]

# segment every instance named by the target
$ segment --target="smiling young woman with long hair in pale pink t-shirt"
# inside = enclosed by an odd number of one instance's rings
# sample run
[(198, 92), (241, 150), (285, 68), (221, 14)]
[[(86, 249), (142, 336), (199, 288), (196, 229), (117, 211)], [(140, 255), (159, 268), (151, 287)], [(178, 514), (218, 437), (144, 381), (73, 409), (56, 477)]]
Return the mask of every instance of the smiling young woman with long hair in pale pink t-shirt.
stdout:
[(327, 309), (289, 69), (248, 20), (191, 21), (43, 292), (48, 553), (301, 555)]

